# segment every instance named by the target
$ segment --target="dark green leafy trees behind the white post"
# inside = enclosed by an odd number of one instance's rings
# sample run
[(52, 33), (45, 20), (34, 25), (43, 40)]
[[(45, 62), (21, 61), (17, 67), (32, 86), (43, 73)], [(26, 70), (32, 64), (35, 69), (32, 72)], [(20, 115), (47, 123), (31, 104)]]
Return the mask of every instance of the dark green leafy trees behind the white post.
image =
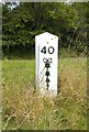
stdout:
[(35, 35), (49, 32), (59, 38), (59, 51), (87, 54), (89, 2), (7, 2), (2, 4), (3, 50), (35, 45)]

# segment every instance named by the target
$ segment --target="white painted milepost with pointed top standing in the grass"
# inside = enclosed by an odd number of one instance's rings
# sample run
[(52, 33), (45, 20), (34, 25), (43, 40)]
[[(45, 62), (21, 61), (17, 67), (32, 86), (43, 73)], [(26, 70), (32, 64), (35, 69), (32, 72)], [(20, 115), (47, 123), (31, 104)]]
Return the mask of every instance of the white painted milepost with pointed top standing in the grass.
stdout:
[(45, 32), (35, 36), (35, 79), (41, 94), (57, 96), (58, 37)]

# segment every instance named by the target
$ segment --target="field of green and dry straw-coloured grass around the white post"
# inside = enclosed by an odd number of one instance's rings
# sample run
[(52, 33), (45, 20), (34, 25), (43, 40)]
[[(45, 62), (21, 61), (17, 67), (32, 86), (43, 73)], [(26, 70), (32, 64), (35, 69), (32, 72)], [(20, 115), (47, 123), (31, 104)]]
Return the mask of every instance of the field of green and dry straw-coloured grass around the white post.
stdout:
[(3, 130), (87, 130), (87, 58), (60, 58), (58, 96), (35, 89), (35, 61), (2, 62)]

